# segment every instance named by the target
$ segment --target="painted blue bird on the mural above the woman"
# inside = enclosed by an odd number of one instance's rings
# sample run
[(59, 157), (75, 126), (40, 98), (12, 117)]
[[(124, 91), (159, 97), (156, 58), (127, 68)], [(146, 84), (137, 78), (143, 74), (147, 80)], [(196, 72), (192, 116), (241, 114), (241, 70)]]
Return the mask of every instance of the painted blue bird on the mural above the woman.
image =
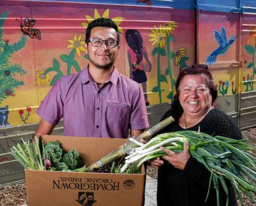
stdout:
[(227, 33), (223, 27), (221, 27), (221, 33), (219, 31), (214, 30), (214, 37), (220, 46), (216, 48), (206, 58), (206, 63), (208, 64), (208, 66), (215, 64), (218, 55), (223, 55), (227, 53), (229, 50), (229, 46), (233, 44), (235, 41), (235, 36), (232, 36), (228, 42)]

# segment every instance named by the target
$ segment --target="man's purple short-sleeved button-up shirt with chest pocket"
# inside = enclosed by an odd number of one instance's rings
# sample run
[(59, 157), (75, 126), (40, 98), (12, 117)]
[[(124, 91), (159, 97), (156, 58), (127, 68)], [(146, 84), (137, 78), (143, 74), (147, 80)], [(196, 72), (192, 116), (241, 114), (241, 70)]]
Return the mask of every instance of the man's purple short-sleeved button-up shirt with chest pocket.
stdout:
[(100, 89), (88, 66), (60, 78), (36, 113), (53, 125), (63, 117), (66, 136), (127, 138), (129, 128), (149, 126), (140, 85), (119, 74), (115, 67)]

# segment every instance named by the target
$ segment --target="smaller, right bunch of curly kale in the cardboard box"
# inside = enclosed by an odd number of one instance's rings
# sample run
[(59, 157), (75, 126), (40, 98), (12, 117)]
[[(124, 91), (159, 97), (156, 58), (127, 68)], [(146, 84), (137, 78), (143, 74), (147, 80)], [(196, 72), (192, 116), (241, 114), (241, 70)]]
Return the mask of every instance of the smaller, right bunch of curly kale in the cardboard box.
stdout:
[(77, 169), (81, 167), (82, 164), (76, 149), (70, 149), (70, 151), (63, 156), (62, 162), (64, 162), (70, 170)]

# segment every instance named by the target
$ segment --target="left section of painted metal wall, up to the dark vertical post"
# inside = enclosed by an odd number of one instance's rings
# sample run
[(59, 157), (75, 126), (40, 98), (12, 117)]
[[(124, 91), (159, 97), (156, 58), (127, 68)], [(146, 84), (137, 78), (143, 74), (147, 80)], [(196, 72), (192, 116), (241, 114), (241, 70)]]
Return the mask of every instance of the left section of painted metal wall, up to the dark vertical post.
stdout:
[[(0, 147), (0, 186), (19, 183), (24, 179), (23, 168), (10, 155), (10, 148), (13, 145), (21, 143), (21, 138), (24, 141), (31, 140), (38, 126), (38, 122), (40, 121), (35, 111), (49, 92), (50, 87), (46, 87), (45, 85), (35, 87), (35, 76), (37, 72), (46, 71), (46, 68), (54, 66), (58, 61), (61, 70), (66, 75), (66, 65), (61, 61), (62, 59), (60, 59), (60, 55), (62, 55), (60, 51), (69, 55), (71, 49), (63, 50), (63, 48), (69, 44), (66, 40), (72, 39), (74, 34), (77, 34), (78, 37), (80, 33), (83, 33), (85, 28), (81, 26), (81, 22), (86, 22), (86, 18), (90, 18), (90, 16), (91, 18), (95, 18), (97, 12), (102, 16), (103, 14), (106, 15), (109, 9), (110, 18), (115, 18), (115, 16), (123, 18), (121, 24), (123, 32), (128, 29), (137, 29), (144, 39), (149, 59), (152, 61), (154, 67), (152, 72), (147, 74), (149, 82), (147, 95), (150, 100), (150, 106), (147, 107), (147, 112), (150, 127), (157, 124), (165, 111), (170, 108), (171, 99), (167, 98), (167, 96), (174, 90), (173, 83), (172, 87), (170, 87), (170, 78), (172, 75), (173, 77), (177, 76), (178, 69), (177, 66), (173, 65), (175, 68), (172, 69), (173, 74), (168, 74), (166, 71), (166, 68), (168, 68), (168, 57), (166, 55), (161, 56), (161, 68), (159, 68), (159, 71), (161, 70), (162, 75), (166, 76), (166, 80), (161, 81), (162, 99), (160, 99), (158, 93), (153, 90), (157, 85), (155, 79), (157, 76), (157, 55), (153, 55), (155, 45), (150, 46), (152, 42), (147, 41), (150, 38), (148, 35), (152, 33), (150, 29), (155, 29), (154, 26), (159, 28), (160, 25), (165, 26), (165, 24), (168, 24), (170, 21), (176, 21), (178, 28), (176, 28), (176, 36), (171, 39), (171, 49), (173, 53), (175, 53), (174, 49), (177, 50), (179, 47), (191, 47), (192, 50), (188, 52), (188, 64), (192, 64), (194, 60), (193, 1), (152, 1), (153, 7), (150, 12), (148, 11), (149, 7), (143, 3), (138, 5), (132, 1), (127, 1), (127, 4), (114, 3), (115, 5), (112, 5), (112, 3), (114, 2), (103, 4), (102, 1), (97, 1), (97, 3), (95, 3), (95, 1), (93, 1), (93, 3), (89, 3), (88, 1), (1, 1), (3, 9), (10, 9), (10, 16), (4, 19), (5, 25), (3, 28), (0, 28), (4, 29), (3, 38), (10, 39), (9, 45), (11, 45), (12, 42), (17, 42), (23, 34), (20, 24), (16, 19), (21, 23), (20, 17), (23, 16), (22, 24), (24, 24), (26, 15), (29, 19), (36, 19), (34, 28), (41, 31), (42, 40), (39, 41), (27, 37), (26, 45), (22, 52), (14, 55), (11, 59), (11, 63), (14, 64), (18, 62), (27, 72), (27, 74), (23, 76), (17, 75), (16, 78), (22, 80), (28, 90), (24, 91), (24, 89), (20, 88), (19, 90), (15, 90), (15, 93), (13, 92), (14, 94), (12, 95), (15, 96), (11, 98), (15, 100), (16, 104), (14, 104), (14, 106), (9, 96), (4, 100), (4, 103), (0, 105), (0, 108), (9, 105), (8, 122), (11, 124), (11, 127), (0, 128), (0, 146), (3, 146)], [(187, 10), (184, 12), (184, 10), (173, 9), (174, 7)], [(178, 33), (184, 33), (184, 35), (187, 36), (186, 39), (178, 35)], [(182, 45), (175, 46), (174, 39), (177, 43), (179, 42), (178, 44)], [(60, 40), (62, 40), (62, 42), (59, 42)], [(119, 50), (117, 60), (118, 71), (125, 76), (129, 76), (130, 68), (127, 59), (128, 46), (124, 42), (125, 37), (121, 34), (121, 50)], [(47, 48), (46, 45), (48, 45)], [(65, 47), (63, 47), (63, 45), (65, 45)], [(5, 48), (8, 48), (8, 45)], [(163, 49), (167, 49), (166, 44)], [(26, 53), (29, 54), (29, 56), (26, 56)], [(168, 54), (169, 52), (166, 53)], [(76, 60), (79, 65), (85, 67), (87, 60), (82, 55), (82, 58), (76, 58)], [(50, 64), (46, 62), (50, 62)], [(72, 68), (71, 73), (74, 72), (76, 71)], [(49, 75), (52, 80), (56, 73), (51, 71)], [(21, 92), (22, 94), (20, 95), (19, 93)], [(28, 118), (25, 119), (25, 117)], [(54, 129), (53, 134), (64, 135), (62, 121)]]

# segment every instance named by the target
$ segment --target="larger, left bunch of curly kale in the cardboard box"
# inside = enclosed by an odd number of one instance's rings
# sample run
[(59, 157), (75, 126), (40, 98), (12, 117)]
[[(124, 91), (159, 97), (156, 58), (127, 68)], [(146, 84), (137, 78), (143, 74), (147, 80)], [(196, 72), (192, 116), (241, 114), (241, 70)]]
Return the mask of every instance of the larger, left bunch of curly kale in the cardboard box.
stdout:
[(51, 161), (51, 165), (56, 166), (58, 162), (61, 162), (63, 155), (66, 153), (64, 149), (61, 148), (61, 143), (59, 141), (50, 141), (44, 145), (45, 157)]

